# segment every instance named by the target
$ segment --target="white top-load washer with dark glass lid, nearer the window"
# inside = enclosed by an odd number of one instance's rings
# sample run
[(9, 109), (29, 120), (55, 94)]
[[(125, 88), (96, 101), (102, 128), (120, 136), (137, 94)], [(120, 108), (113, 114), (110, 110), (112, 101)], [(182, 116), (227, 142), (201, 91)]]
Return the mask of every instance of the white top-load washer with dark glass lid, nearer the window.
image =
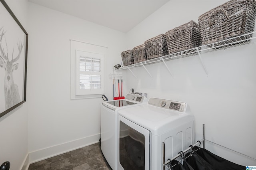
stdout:
[(101, 150), (108, 164), (117, 170), (118, 160), (118, 111), (136, 105), (146, 104), (144, 96), (127, 94), (125, 99), (105, 101), (101, 105)]

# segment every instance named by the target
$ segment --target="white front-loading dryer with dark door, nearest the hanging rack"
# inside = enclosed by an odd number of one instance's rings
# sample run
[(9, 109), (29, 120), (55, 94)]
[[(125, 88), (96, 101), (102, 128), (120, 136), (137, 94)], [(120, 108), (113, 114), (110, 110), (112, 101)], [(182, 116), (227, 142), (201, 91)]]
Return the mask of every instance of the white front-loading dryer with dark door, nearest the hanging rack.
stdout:
[(118, 113), (118, 170), (163, 170), (163, 142), (165, 161), (194, 144), (194, 116), (184, 102), (150, 98)]

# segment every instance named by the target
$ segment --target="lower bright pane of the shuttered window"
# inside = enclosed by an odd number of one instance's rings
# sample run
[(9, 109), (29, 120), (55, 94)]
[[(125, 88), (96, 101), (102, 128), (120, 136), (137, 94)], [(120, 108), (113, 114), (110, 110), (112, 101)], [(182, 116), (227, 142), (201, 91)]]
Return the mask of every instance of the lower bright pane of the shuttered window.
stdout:
[(100, 89), (100, 75), (80, 74), (80, 89)]

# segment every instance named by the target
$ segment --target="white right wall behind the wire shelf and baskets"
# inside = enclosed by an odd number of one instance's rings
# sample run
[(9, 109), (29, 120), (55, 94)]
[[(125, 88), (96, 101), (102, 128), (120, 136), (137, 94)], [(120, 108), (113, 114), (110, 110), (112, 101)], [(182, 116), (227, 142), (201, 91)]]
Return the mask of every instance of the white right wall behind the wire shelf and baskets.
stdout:
[[(164, 34), (191, 20), (198, 22), (204, 12), (226, 0), (171, 0), (138, 24), (126, 35), (126, 50)], [(183, 101), (195, 116), (196, 140), (205, 138), (232, 150), (256, 158), (256, 58), (255, 44), (202, 54), (204, 71), (198, 55), (147, 65), (118, 73), (126, 74), (128, 89), (158, 97)], [(184, 148), (185, 149), (185, 148)], [(206, 149), (237, 164), (255, 165), (256, 161), (218, 145), (206, 142)]]

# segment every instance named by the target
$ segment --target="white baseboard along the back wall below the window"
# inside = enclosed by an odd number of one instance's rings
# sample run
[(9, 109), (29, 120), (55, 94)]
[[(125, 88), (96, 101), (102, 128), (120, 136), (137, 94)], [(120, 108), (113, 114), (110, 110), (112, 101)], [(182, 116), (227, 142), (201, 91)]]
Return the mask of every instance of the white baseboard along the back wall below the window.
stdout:
[(97, 143), (97, 142), (99, 142), (99, 139), (100, 139), (100, 133), (92, 135), (92, 136), (88, 136), (85, 138), (81, 138), (78, 140), (66, 142), (63, 144), (51, 146), (49, 148), (44, 148), (41, 150), (36, 150), (34, 152), (30, 152), (29, 156), (28, 156), (29, 163), (32, 164), (32, 163), (38, 162), (40, 160), (51, 158), (53, 156), (69, 152), (71, 150), (76, 150), (78, 148), (82, 148), (84, 146), (88, 146), (90, 144)]

